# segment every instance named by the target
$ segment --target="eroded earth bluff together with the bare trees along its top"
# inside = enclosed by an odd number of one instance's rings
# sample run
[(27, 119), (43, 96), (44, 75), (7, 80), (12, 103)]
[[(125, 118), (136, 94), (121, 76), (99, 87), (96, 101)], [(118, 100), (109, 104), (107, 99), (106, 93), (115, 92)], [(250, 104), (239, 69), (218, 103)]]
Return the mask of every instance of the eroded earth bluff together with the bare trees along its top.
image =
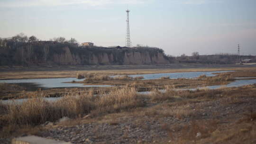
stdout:
[[(73, 40), (73, 41), (72, 41)], [(168, 57), (156, 47), (79, 46), (72, 38), (40, 41), (23, 34), (0, 39), (0, 65), (165, 64)]]

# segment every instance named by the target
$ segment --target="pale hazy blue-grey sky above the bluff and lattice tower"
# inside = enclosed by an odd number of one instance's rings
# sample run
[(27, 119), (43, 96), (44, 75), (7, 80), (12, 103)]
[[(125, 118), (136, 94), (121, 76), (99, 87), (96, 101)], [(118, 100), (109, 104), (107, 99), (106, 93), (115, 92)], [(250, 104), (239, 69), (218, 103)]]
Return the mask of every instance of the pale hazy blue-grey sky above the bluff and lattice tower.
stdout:
[(0, 0), (0, 37), (71, 37), (125, 45), (126, 9), (133, 46), (165, 54), (256, 55), (256, 0)]

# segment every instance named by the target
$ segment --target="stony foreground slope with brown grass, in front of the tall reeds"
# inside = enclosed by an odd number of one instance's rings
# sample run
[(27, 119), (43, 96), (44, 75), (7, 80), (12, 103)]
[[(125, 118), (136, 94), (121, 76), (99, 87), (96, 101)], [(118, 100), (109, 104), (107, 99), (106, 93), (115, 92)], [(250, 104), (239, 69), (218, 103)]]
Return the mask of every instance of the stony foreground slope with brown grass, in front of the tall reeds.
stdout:
[[(256, 97), (164, 102), (131, 113), (112, 114), (100, 119), (82, 118), (80, 122), (84, 124), (75, 126), (66, 126), (72, 123), (66, 121), (50, 126), (38, 135), (74, 144), (176, 144), (181, 139), (187, 139), (186, 144), (204, 143), (207, 140), (213, 142), (214, 135), (226, 135), (225, 130), (236, 126), (239, 120), (246, 117), (244, 114), (249, 109), (256, 108), (255, 103)], [(175, 109), (177, 111), (173, 113)], [(255, 124), (255, 119), (249, 121)], [(194, 128), (196, 126), (198, 128)], [(251, 130), (255, 134), (255, 129)], [(245, 129), (244, 134), (250, 135), (251, 130)], [(250, 141), (255, 144), (256, 137)]]

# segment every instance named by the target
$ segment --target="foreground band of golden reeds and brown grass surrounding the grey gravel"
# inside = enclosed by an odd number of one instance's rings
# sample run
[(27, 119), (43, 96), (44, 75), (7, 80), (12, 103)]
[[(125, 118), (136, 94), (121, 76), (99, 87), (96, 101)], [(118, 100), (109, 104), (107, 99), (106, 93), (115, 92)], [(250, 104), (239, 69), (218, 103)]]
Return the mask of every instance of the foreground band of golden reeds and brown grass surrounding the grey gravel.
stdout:
[[(134, 117), (139, 127), (149, 120), (159, 121), (159, 130), (168, 135), (155, 140), (163, 144), (170, 140), (171, 144), (251, 142), (256, 128), (256, 113), (252, 110), (255, 109), (255, 93), (256, 85), (196, 91), (166, 86), (165, 93), (153, 89), (149, 95), (138, 95), (135, 88), (129, 87), (101, 92), (101, 96), (93, 96), (93, 90), (82, 94), (71, 91), (52, 103), (31, 98), (21, 105), (0, 104), (1, 136), (14, 135), (24, 127), (36, 126), (33, 129), (37, 130), (38, 125), (55, 122), (61, 117), (73, 118), (74, 122), (69, 125), (77, 125), (77, 121), (79, 124), (107, 121), (113, 126), (124, 123), (118, 120), (121, 117)], [(88, 115), (89, 119), (84, 117)], [(180, 122), (168, 123), (165, 118)], [(63, 125), (66, 124), (60, 124)], [(243, 139), (237, 138), (238, 135)]]

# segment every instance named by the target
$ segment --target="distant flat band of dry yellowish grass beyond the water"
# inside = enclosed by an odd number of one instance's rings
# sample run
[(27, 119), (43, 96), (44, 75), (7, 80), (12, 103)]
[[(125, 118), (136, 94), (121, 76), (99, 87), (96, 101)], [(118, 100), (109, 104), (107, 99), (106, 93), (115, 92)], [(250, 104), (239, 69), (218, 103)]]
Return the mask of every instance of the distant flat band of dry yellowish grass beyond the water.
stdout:
[[(151, 68), (143, 69), (143, 67), (146, 67), (146, 65), (138, 65), (137, 67), (141, 67), (134, 69), (134, 65), (124, 65), (125, 70), (119, 70), (120, 65), (113, 65), (112, 67), (116, 67), (114, 70), (110, 70), (109, 66), (99, 66), (102, 67), (100, 70), (91, 70), (94, 66), (91, 66), (92, 68), (88, 68), (88, 70), (81, 70), (82, 68), (77, 69), (62, 69), (61, 71), (59, 69), (36, 69), (35, 71), (32, 70), (21, 70), (17, 71), (14, 70), (13, 72), (0, 72), (0, 79), (43, 79), (43, 78), (68, 78), (68, 77), (76, 77), (77, 73), (81, 73), (82, 75), (86, 76), (87, 73), (101, 73), (101, 74), (109, 74), (109, 75), (129, 75), (129, 74), (149, 74), (149, 73), (168, 73), (168, 72), (202, 72), (202, 71), (226, 71), (226, 70), (235, 70), (235, 71), (255, 71), (255, 68), (186, 68), (186, 66), (183, 67), (183, 69), (174, 68), (172, 65), (169, 69), (158, 69), (154, 68), (154, 66), (151, 66)], [(180, 65), (179, 65), (180, 66)], [(129, 71), (127, 71), (127, 69)], [(39, 71), (38, 71), (39, 70)], [(11, 70), (10, 70), (11, 71)], [(239, 77), (240, 75), (246, 75), (244, 72), (241, 72), (238, 75), (235, 75), (235, 77)], [(249, 74), (249, 75), (248, 75)], [(248, 73), (247, 76), (253, 76), (255, 75), (255, 72)], [(241, 76), (244, 77), (244, 76)]]

